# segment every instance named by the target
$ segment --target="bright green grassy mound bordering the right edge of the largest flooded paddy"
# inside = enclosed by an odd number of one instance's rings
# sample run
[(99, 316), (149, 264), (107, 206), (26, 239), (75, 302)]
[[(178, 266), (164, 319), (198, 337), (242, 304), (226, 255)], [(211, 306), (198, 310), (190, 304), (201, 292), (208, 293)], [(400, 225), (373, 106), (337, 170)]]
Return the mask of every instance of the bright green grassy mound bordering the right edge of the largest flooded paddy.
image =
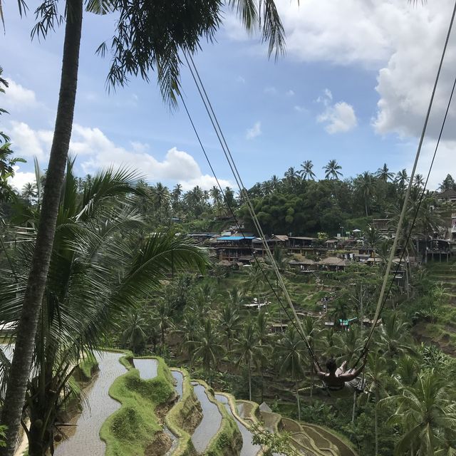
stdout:
[(142, 380), (139, 371), (130, 368), (111, 385), (109, 395), (121, 407), (100, 430), (100, 437), (106, 442), (106, 456), (143, 456), (155, 433), (162, 429), (155, 409), (167, 403), (175, 391), (169, 369), (162, 359), (157, 359), (157, 377), (152, 380)]

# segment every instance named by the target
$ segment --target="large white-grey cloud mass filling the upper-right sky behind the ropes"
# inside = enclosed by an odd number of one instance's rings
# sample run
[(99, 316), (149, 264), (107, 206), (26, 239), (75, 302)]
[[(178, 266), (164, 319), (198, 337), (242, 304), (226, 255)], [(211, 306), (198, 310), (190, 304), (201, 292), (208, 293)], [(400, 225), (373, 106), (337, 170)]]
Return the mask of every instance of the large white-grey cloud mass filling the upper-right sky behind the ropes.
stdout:
[[(276, 0), (286, 31), (287, 55), (296, 61), (361, 65), (377, 71), (378, 110), (372, 125), (380, 134), (420, 134), (453, 3), (405, 0)], [(252, 39), (239, 21), (227, 21), (228, 36)], [(253, 48), (259, 49), (257, 39)], [(261, 48), (264, 53), (264, 48)], [(435, 137), (445, 111), (456, 65), (450, 40), (428, 133)], [(456, 120), (456, 110), (449, 121)], [(456, 129), (447, 131), (456, 139)]]

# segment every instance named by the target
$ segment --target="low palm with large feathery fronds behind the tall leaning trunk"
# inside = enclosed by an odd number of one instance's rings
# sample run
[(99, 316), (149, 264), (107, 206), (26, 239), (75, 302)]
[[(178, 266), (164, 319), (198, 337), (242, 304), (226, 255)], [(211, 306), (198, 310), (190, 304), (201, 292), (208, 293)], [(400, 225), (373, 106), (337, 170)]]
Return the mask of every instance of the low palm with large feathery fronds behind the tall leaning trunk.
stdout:
[[(202, 250), (172, 233), (138, 242), (144, 222), (130, 199), (138, 192), (135, 172), (100, 172), (81, 197), (72, 169), (70, 161), (23, 405), (31, 417), (31, 456), (52, 448), (56, 421), (71, 394), (68, 378), (81, 356), (93, 353), (125, 313), (156, 291), (171, 266), (207, 264)], [(1, 321), (19, 320), (26, 292), (36, 232), (21, 230), (18, 236), (14, 267), (0, 279)]]

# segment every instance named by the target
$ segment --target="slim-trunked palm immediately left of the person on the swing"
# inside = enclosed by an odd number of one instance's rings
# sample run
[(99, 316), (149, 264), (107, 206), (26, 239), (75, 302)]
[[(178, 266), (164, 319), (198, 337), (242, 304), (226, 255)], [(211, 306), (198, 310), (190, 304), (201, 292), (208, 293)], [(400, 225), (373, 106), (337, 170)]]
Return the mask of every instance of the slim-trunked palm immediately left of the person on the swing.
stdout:
[(291, 381), (294, 381), (298, 420), (301, 420), (298, 384), (304, 376), (307, 348), (299, 333), (292, 326), (289, 326), (284, 337), (277, 343), (275, 355), (278, 359), (280, 375), (289, 375)]

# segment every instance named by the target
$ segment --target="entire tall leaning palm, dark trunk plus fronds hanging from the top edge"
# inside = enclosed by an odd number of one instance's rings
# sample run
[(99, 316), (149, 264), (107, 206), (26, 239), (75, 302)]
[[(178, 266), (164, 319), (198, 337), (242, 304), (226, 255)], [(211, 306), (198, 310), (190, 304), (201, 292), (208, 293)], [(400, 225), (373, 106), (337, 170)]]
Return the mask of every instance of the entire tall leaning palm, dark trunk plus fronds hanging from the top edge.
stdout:
[[(18, 1), (19, 11), (24, 10), (23, 0)], [(56, 1), (43, 1), (36, 9), (40, 20), (32, 35), (46, 36), (61, 23)], [(117, 11), (115, 36), (111, 51), (113, 63), (108, 73), (111, 87), (124, 86), (128, 76), (140, 75), (146, 81), (157, 69), (157, 79), (163, 97), (174, 105), (179, 95), (181, 51), (195, 53), (202, 38), (213, 41), (214, 34), (224, 19), (224, 3), (207, 4), (204, 0), (192, 1), (183, 6), (162, 0), (142, 3), (140, 0), (124, 2), (88, 1), (88, 9), (106, 14)], [(274, 0), (235, 0), (230, 2), (245, 28), (258, 28), (261, 38), (269, 41), (269, 54), (276, 56), (284, 51), (284, 28)], [(73, 126), (73, 114), (78, 83), (78, 62), (83, 21), (83, 0), (66, 0), (66, 30), (63, 43), (61, 86), (59, 90), (56, 126), (47, 167), (41, 220), (36, 236), (35, 250), (28, 274), (28, 287), (19, 321), (16, 349), (6, 391), (0, 425), (6, 425), (6, 447), (0, 455), (12, 456), (24, 405), (28, 370), (33, 356), (33, 341), (38, 327), (38, 314), (46, 286), (56, 230), (59, 198), (65, 175), (68, 148)], [(140, 20), (139, 20), (140, 18)], [(185, 33), (182, 33), (185, 30)], [(132, 39), (135, 37), (135, 39)], [(159, 38), (157, 38), (159, 37)], [(98, 51), (108, 50), (102, 43)]]

